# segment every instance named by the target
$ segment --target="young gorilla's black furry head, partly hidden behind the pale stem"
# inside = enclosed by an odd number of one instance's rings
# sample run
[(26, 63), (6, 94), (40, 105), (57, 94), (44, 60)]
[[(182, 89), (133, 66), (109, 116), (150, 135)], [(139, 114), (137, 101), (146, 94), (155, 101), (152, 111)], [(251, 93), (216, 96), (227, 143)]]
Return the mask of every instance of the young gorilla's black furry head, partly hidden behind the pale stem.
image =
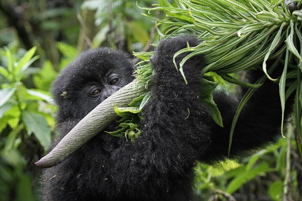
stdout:
[(53, 82), (52, 93), (59, 106), (57, 122), (84, 118), (130, 83), (133, 70), (133, 63), (124, 52), (100, 48), (80, 54)]

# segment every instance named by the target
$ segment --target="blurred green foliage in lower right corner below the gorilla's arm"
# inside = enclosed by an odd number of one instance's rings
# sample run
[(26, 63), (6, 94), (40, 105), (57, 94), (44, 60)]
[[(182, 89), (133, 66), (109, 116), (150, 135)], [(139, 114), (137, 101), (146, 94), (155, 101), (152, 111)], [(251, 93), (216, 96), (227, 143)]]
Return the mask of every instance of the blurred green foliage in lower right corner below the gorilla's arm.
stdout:
[[(285, 190), (294, 200), (299, 200), (300, 161), (286, 161), (287, 153), (294, 153), (293, 125), (275, 145), (260, 149), (241, 161), (226, 160), (215, 165), (199, 163), (196, 168), (195, 187), (200, 200), (216, 198), (225, 200), (267, 199), (286, 200)], [(294, 148), (291, 151), (290, 147)], [(286, 163), (285, 163), (286, 161)], [(286, 164), (286, 165), (285, 165)], [(285, 168), (287, 164), (294, 167)], [(261, 190), (259, 189), (261, 188)], [(249, 194), (249, 191), (251, 192)]]

